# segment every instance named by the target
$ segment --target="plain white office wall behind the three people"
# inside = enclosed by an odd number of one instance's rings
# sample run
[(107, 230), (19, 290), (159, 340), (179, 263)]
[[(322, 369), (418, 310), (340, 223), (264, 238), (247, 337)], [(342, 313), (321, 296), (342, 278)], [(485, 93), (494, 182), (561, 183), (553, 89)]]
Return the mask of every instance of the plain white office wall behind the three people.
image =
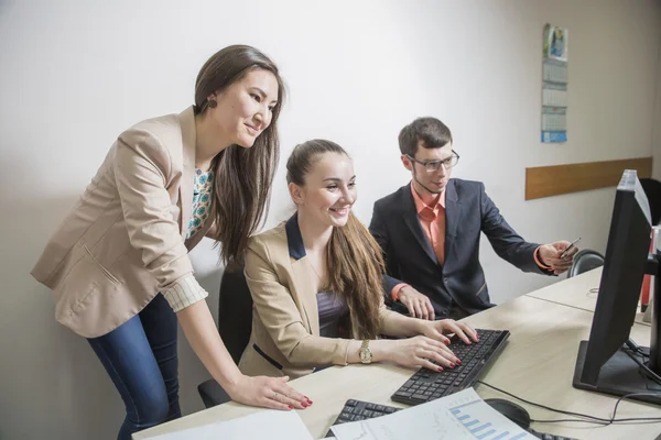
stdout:
[[(564, 145), (539, 142), (545, 22), (570, 29)], [(454, 132), (455, 175), (484, 180), (523, 237), (581, 235), (604, 251), (613, 188), (525, 202), (524, 168), (651, 155), (660, 42), (653, 0), (0, 0), (0, 438), (116, 436), (119, 396), (28, 273), (117, 134), (191, 105), (197, 70), (218, 48), (252, 44), (278, 62), (291, 91), (282, 162), (311, 138), (344, 145), (364, 221), (408, 182), (399, 130), (430, 114)], [(270, 226), (291, 209), (282, 168)], [(554, 282), (519, 273), (488, 244), (481, 256), (497, 301)], [(194, 261), (215, 309), (210, 243)], [(208, 375), (181, 341), (182, 405), (192, 413)]]

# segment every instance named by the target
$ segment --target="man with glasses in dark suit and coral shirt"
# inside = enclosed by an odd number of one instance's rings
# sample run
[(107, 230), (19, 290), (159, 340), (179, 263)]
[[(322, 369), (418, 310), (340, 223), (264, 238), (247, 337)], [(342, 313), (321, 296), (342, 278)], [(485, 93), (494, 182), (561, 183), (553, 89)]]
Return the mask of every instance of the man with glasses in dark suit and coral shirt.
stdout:
[(523, 272), (557, 275), (571, 267), (577, 250), (561, 257), (570, 242), (524, 241), (483, 183), (451, 179), (459, 155), (443, 122), (419, 118), (402, 129), (399, 144), (411, 184), (375, 204), (369, 227), (392, 277), (384, 284), (394, 309), (405, 306), (423, 319), (460, 319), (494, 306), (478, 258), (480, 232)]

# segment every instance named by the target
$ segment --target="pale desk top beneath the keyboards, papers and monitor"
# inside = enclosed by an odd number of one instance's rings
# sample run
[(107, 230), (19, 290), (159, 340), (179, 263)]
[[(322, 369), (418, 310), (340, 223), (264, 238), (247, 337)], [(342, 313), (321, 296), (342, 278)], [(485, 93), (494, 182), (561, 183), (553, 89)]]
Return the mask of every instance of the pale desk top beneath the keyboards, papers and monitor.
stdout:
[[(577, 279), (577, 278), (576, 278)], [(583, 286), (592, 283), (575, 278), (546, 287), (544, 294), (562, 294), (573, 290), (581, 294)], [(593, 314), (562, 304), (550, 302), (532, 295), (522, 296), (492, 309), (469, 317), (467, 320), (479, 328), (508, 329), (511, 337), (505, 350), (492, 364), (483, 381), (529, 400), (557, 409), (609, 417), (616, 398), (597, 393), (575, 389), (572, 377), (578, 341), (589, 334)], [(632, 337), (641, 344), (649, 344), (650, 327), (636, 323)], [(390, 400), (390, 395), (401, 386), (413, 370), (395, 365), (349, 365), (332, 367), (293, 381), (291, 384), (314, 400), (312, 407), (300, 411), (315, 438), (323, 437), (335, 420), (344, 403), (357, 398), (391, 406), (402, 405)], [(478, 385), (483, 398), (501, 397), (495, 391)], [(564, 418), (551, 411), (521, 404), (533, 419)], [(133, 436), (147, 439), (165, 432), (201, 426), (218, 420), (245, 416), (258, 408), (229, 403), (174, 420)], [(618, 417), (661, 417), (661, 407), (626, 402), (620, 404)], [(541, 432), (572, 436), (578, 439), (654, 439), (661, 432), (661, 424), (617, 425), (597, 427), (586, 424), (533, 424)]]

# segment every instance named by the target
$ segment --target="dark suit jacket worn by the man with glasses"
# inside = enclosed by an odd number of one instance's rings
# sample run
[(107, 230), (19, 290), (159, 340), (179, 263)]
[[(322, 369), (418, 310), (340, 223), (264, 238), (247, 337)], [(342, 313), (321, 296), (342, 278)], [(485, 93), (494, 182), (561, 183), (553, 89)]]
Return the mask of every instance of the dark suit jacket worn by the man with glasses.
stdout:
[[(449, 314), (452, 301), (469, 314), (492, 307), (485, 273), (479, 264), (480, 232), (501, 257), (523, 272), (549, 274), (533, 253), (539, 244), (525, 242), (505, 221), (480, 182), (451, 179), (445, 195), (445, 264), (441, 266), (422, 227), (411, 185), (375, 204), (370, 231), (383, 250), (392, 278), (401, 279), (430, 297), (437, 318)], [(395, 279), (397, 278), (397, 279)]]

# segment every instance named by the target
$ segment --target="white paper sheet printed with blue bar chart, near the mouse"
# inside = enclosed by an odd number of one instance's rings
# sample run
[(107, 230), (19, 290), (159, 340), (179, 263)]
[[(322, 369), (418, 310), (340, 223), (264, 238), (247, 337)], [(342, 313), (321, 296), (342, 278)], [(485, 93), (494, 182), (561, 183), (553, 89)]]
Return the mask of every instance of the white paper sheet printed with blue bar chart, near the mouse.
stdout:
[(537, 440), (473, 388), (388, 416), (336, 425), (332, 430), (337, 440)]

